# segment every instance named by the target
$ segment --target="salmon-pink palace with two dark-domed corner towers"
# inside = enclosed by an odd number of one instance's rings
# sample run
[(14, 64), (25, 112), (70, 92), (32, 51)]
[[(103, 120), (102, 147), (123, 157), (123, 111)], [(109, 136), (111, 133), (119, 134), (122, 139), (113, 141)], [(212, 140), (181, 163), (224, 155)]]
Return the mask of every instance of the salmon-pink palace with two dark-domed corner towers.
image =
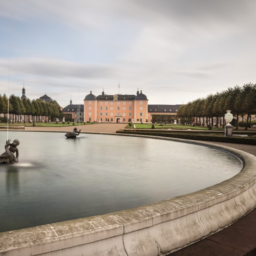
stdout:
[(104, 91), (95, 96), (90, 92), (84, 98), (84, 121), (109, 123), (147, 122), (148, 99), (137, 91), (136, 95), (108, 95)]

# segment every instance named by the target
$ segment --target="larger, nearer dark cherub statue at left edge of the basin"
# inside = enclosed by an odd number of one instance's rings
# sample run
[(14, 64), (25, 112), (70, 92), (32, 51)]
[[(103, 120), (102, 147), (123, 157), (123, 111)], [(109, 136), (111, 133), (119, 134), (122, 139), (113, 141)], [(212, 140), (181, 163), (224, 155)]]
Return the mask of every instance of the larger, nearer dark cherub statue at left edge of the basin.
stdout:
[[(10, 139), (7, 140), (4, 148), (5, 152), (0, 156), (0, 163), (18, 163), (19, 150), (17, 146), (20, 145), (18, 139), (14, 139), (14, 141), (10, 144)], [(10, 146), (10, 147), (9, 147)], [(16, 152), (16, 157), (14, 153)]]

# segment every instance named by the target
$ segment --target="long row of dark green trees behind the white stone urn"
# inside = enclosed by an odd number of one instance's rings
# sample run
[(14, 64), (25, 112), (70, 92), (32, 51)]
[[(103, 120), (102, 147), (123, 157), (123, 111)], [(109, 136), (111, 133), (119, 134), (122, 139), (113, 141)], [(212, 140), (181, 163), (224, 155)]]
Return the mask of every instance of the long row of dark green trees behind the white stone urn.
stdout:
[[(256, 114), (256, 84), (247, 83), (243, 86), (235, 86), (220, 93), (209, 94), (205, 98), (188, 102), (180, 106), (177, 115), (182, 122), (196, 122), (201, 125), (201, 117), (206, 118), (206, 123), (213, 125), (213, 118), (216, 117), (216, 127), (219, 125), (220, 118), (231, 110), (236, 115), (236, 128), (238, 129), (239, 115), (247, 114), (246, 130), (251, 125), (251, 114)], [(199, 118), (199, 122), (198, 122)], [(242, 122), (243, 123), (243, 122)]]

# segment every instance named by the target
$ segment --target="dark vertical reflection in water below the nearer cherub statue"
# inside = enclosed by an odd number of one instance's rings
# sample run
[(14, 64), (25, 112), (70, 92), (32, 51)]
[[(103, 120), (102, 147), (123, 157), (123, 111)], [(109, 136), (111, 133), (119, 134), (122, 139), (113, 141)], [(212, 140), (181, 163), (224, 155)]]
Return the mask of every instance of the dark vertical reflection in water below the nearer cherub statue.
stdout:
[(19, 194), (19, 170), (17, 166), (7, 165), (6, 170), (6, 192), (9, 195)]

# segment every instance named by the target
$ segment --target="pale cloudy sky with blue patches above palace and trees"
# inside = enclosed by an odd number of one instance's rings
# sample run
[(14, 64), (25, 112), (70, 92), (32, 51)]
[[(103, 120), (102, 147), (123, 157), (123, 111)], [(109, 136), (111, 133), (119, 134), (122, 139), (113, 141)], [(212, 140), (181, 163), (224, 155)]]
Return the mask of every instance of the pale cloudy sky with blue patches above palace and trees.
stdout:
[[(255, 83), (255, 0), (0, 0), (0, 93), (186, 104)], [(118, 86), (119, 85), (119, 86)]]

